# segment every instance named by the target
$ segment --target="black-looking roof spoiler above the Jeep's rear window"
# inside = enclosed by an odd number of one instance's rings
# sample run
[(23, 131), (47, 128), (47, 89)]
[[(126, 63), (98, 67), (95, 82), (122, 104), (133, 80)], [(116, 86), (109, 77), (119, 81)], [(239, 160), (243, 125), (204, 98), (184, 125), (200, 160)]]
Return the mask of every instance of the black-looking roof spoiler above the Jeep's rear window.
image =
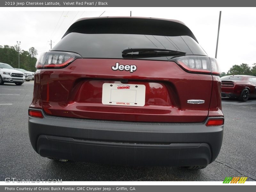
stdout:
[[(88, 34), (142, 34), (159, 36), (190, 36), (197, 43), (192, 31), (181, 21), (145, 17), (95, 17), (82, 18), (73, 23), (65, 37), (71, 32)], [(62, 37), (62, 38), (63, 38)]]

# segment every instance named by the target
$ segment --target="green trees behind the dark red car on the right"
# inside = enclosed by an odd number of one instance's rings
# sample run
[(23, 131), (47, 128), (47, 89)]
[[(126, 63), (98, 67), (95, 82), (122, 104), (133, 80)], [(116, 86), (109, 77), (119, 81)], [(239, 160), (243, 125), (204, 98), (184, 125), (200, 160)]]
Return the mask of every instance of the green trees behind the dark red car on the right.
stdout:
[(241, 65), (233, 65), (227, 73), (222, 72), (220, 77), (226, 75), (252, 75), (256, 76), (256, 63), (253, 64), (253, 67), (249, 67), (248, 64), (242, 63)]

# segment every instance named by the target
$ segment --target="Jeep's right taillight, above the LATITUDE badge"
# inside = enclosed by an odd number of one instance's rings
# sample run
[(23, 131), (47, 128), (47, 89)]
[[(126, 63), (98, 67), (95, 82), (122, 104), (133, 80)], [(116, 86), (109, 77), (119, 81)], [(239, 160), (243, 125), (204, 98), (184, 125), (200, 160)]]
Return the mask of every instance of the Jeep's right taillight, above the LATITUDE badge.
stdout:
[(215, 58), (191, 55), (179, 57), (175, 61), (189, 73), (220, 75), (219, 66)]

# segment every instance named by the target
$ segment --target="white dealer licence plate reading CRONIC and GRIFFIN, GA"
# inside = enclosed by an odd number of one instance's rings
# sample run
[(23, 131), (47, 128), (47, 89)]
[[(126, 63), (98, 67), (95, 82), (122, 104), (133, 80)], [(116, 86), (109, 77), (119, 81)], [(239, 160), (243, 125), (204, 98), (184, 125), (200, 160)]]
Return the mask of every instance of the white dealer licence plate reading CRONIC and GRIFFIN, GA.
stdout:
[(104, 105), (144, 106), (146, 86), (140, 84), (104, 83), (102, 103)]

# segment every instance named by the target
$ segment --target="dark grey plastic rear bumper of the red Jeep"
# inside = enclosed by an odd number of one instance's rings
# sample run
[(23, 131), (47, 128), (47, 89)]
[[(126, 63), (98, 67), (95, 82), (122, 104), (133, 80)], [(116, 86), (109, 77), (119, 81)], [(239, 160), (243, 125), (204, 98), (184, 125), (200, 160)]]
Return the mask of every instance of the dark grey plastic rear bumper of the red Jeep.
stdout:
[(206, 166), (216, 159), (222, 144), (223, 125), (206, 127), (206, 121), (121, 122), (42, 113), (43, 119), (29, 116), (28, 129), (33, 148), (44, 157), (122, 165)]

